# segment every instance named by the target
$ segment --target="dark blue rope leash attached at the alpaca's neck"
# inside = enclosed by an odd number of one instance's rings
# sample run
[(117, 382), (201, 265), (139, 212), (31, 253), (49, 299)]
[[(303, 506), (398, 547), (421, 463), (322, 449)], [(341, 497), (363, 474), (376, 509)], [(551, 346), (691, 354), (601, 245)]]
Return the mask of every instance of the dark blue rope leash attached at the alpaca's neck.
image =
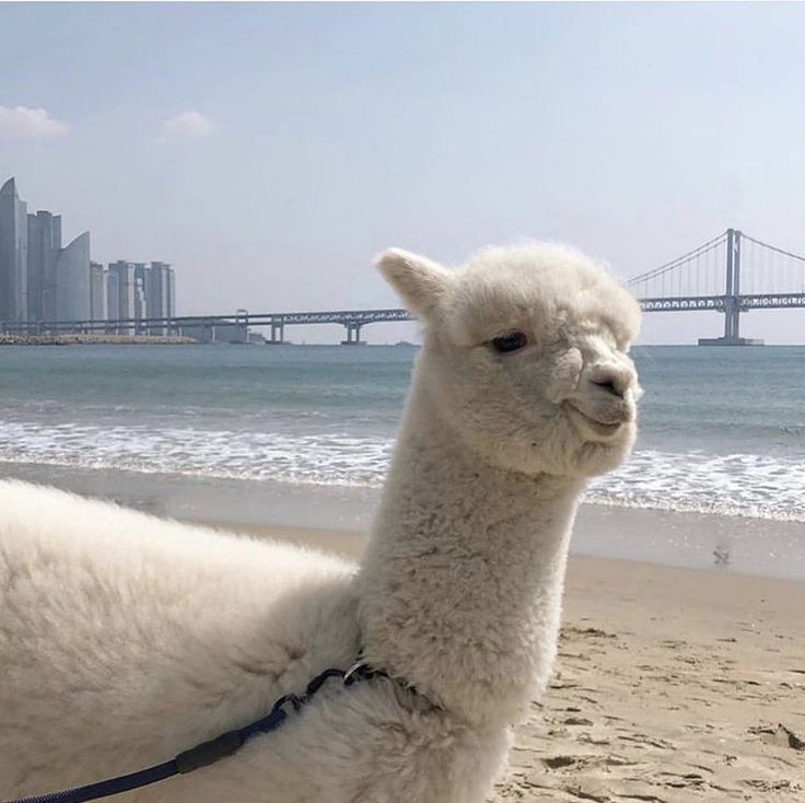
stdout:
[(351, 686), (359, 680), (368, 680), (372, 677), (388, 677), (381, 670), (373, 670), (369, 664), (358, 661), (350, 670), (325, 670), (320, 675), (316, 675), (307, 684), (304, 695), (285, 695), (280, 697), (273, 703), (271, 712), (260, 718), (245, 728), (237, 728), (234, 731), (226, 731), (220, 736), (202, 742), (189, 750), (179, 753), (178, 756), (172, 758), (164, 764), (158, 764), (155, 767), (141, 769), (138, 772), (130, 772), (126, 776), (109, 778), (106, 781), (97, 783), (89, 783), (85, 787), (75, 787), (74, 789), (66, 789), (61, 792), (51, 792), (50, 794), (40, 794), (34, 798), (21, 798), (20, 800), (5, 801), (5, 803), (83, 803), (88, 800), (97, 800), (98, 798), (108, 798), (120, 792), (128, 792), (131, 789), (147, 787), (150, 783), (164, 781), (175, 775), (187, 775), (199, 767), (207, 767), (221, 758), (231, 756), (236, 753), (247, 740), (256, 736), (258, 733), (271, 733), (276, 731), (287, 719), (288, 711), (285, 706), (291, 706), (296, 712), (311, 701), (313, 696), (322, 686), (330, 678), (338, 677), (343, 680), (345, 686)]

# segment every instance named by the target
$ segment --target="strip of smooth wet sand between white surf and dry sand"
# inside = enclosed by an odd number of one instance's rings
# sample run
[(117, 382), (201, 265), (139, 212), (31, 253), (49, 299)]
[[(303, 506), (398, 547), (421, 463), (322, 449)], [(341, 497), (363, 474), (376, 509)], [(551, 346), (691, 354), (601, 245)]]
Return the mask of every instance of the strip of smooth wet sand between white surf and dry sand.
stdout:
[[(52, 485), (145, 513), (236, 529), (366, 533), (380, 490), (0, 463), (0, 477)], [(580, 507), (571, 552), (714, 574), (805, 581), (805, 523), (705, 513)]]

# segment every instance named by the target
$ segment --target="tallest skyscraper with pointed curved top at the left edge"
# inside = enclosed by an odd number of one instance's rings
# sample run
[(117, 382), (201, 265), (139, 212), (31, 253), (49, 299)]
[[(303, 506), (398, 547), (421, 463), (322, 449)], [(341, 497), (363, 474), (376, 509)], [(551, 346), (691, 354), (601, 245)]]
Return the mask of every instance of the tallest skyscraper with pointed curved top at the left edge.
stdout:
[(0, 187), (0, 322), (28, 318), (27, 205), (9, 178)]

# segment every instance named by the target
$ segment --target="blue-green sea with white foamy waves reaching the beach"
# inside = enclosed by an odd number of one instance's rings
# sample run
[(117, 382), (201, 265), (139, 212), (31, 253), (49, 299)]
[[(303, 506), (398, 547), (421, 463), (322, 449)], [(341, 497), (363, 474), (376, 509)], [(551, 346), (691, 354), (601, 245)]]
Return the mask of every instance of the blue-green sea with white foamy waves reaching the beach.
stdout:
[[(0, 469), (57, 485), (125, 473), (165, 488), (270, 487), (272, 499), (372, 497), (416, 351), (0, 349)], [(805, 347), (637, 347), (633, 358), (645, 389), (639, 441), (587, 502), (805, 522)], [(335, 524), (354, 526), (348, 519)]]

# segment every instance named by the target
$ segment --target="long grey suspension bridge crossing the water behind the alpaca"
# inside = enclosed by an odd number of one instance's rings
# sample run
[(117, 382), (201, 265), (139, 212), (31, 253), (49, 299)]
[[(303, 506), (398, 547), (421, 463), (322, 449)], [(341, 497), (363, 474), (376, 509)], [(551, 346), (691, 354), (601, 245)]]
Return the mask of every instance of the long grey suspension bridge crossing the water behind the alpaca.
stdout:
[[(762, 341), (740, 336), (740, 316), (751, 310), (805, 307), (805, 256), (778, 248), (727, 229), (712, 240), (627, 280), (646, 313), (718, 312), (724, 335), (700, 338), (700, 346), (749, 346)], [(183, 315), (172, 318), (2, 323), (4, 334), (178, 334), (203, 342), (244, 342), (254, 327), (265, 327), (266, 341), (285, 341), (285, 326), (339, 324), (345, 346), (358, 346), (368, 324), (411, 321), (407, 310), (339, 310), (325, 312)]]

